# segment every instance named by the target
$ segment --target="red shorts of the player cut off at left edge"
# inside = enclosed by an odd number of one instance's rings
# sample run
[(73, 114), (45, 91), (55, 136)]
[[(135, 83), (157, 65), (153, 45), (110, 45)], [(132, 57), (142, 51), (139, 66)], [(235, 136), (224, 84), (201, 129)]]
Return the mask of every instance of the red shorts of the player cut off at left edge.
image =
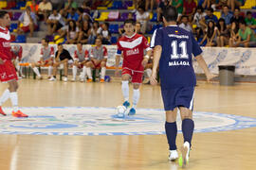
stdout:
[(4, 64), (0, 64), (0, 80), (2, 82), (8, 82), (13, 79), (18, 80), (15, 66), (11, 60), (6, 60)]

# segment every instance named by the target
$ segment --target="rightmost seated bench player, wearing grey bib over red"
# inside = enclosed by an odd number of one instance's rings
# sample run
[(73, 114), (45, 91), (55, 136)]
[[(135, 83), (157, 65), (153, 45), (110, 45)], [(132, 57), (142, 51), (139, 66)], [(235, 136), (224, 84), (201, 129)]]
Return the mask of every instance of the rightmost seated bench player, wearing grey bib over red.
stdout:
[(101, 69), (101, 82), (104, 82), (108, 58), (107, 49), (102, 45), (101, 38), (99, 37), (96, 39), (95, 45), (90, 49), (90, 61), (87, 64), (87, 82), (92, 82), (91, 69)]

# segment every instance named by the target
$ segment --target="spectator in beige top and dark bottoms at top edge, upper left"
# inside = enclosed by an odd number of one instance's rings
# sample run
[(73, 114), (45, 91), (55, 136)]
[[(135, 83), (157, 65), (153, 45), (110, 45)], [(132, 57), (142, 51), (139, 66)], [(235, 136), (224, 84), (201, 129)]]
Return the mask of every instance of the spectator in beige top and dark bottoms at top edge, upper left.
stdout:
[(40, 20), (44, 20), (46, 22), (49, 13), (52, 10), (51, 3), (47, 0), (43, 0), (38, 7), (38, 16)]

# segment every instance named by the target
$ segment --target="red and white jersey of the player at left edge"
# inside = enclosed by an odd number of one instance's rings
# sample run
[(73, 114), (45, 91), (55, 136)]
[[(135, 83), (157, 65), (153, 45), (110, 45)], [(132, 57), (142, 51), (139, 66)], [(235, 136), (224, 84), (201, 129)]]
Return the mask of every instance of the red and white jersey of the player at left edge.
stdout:
[(0, 58), (12, 59), (10, 52), (10, 34), (8, 28), (0, 26)]

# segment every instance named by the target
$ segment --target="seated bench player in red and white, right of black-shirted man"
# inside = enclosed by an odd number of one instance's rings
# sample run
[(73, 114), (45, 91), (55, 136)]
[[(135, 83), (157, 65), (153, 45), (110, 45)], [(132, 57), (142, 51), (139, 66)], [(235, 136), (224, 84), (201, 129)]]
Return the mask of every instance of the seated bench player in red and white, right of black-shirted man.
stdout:
[(87, 62), (89, 61), (89, 52), (82, 48), (82, 43), (77, 43), (77, 49), (74, 53), (74, 64), (73, 64), (73, 78), (71, 81), (76, 81), (78, 69), (82, 69), (80, 81), (83, 82), (87, 72)]

